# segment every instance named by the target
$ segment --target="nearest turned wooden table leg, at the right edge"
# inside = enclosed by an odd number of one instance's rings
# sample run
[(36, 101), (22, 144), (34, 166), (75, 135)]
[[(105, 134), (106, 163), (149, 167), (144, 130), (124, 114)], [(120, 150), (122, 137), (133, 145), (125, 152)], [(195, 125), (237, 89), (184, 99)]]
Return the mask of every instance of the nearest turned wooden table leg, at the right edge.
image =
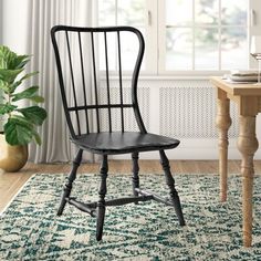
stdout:
[(252, 191), (253, 191), (253, 155), (259, 143), (255, 137), (255, 116), (240, 116), (238, 148), (242, 154), (242, 211), (243, 211), (243, 246), (252, 243)]

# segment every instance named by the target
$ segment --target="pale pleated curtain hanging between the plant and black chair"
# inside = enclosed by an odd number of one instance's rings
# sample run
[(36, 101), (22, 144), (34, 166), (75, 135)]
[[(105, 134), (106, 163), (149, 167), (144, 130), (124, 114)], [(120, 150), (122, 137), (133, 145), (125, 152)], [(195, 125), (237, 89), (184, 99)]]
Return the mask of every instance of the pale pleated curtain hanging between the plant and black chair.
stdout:
[[(42, 145), (30, 145), (30, 160), (34, 163), (70, 161), (75, 147), (69, 132), (60, 97), (56, 66), (51, 44), (50, 29), (55, 24), (92, 25), (91, 0), (28, 0), (27, 52), (32, 54), (30, 71), (39, 71), (32, 84), (40, 85), (48, 119), (39, 128)], [(84, 160), (93, 155), (84, 154)]]

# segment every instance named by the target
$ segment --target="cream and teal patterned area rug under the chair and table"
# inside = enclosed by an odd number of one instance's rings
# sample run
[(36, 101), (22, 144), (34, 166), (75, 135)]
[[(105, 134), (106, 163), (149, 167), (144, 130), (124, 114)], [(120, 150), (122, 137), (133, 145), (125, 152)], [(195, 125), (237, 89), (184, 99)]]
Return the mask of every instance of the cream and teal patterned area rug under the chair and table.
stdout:
[[(251, 249), (241, 247), (240, 177), (229, 178), (228, 202), (220, 203), (218, 176), (177, 175), (186, 227), (158, 202), (108, 207), (101, 242), (88, 215), (66, 206), (55, 216), (64, 177), (35, 175), (0, 217), (0, 260), (261, 260), (261, 177), (254, 179)], [(73, 195), (96, 199), (98, 180), (80, 175)], [(165, 195), (161, 175), (142, 176), (143, 184)], [(132, 195), (127, 175), (109, 176), (107, 185), (109, 195)]]

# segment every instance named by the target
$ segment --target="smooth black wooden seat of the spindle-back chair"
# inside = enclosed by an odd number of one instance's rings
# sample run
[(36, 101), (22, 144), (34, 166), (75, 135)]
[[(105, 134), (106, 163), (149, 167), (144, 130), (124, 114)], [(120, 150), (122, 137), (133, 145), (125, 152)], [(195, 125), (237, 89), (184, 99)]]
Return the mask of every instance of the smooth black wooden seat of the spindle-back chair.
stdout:
[(72, 142), (83, 149), (104, 155), (169, 149), (179, 145), (175, 138), (136, 132), (90, 133)]

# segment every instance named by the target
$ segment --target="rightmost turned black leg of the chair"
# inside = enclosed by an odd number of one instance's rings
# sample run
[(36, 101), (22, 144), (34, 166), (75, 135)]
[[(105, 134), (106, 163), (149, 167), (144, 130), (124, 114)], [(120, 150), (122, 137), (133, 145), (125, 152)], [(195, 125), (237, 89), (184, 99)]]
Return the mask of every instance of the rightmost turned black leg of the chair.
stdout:
[(164, 150), (159, 150), (159, 155), (160, 155), (160, 163), (161, 163), (161, 166), (163, 166), (163, 169), (165, 173), (166, 184), (168, 185), (169, 190), (170, 190), (170, 192), (169, 192), (170, 199), (174, 202), (174, 208), (175, 208), (176, 215), (178, 217), (179, 225), (185, 226), (182, 209), (181, 209), (180, 200), (178, 197), (178, 192), (175, 189), (175, 180), (174, 180), (171, 171), (170, 171), (168, 158), (167, 158)]

